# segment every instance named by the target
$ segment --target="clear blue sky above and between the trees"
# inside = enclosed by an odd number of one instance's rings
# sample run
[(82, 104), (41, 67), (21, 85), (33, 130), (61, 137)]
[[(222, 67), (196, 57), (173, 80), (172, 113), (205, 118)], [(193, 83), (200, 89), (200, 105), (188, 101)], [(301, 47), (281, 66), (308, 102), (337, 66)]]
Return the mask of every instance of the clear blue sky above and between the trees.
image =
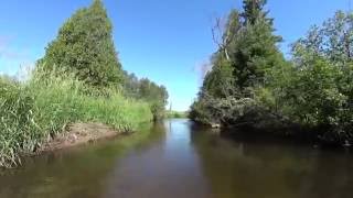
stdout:
[[(3, 0), (0, 7), (0, 74), (15, 75), (43, 56), (58, 28), (90, 0)], [(201, 86), (200, 66), (216, 50), (211, 28), (240, 0), (104, 0), (126, 70), (164, 85), (175, 110), (186, 110)], [(349, 0), (268, 0), (277, 34), (288, 45)], [(353, 1), (352, 1), (353, 6)]]

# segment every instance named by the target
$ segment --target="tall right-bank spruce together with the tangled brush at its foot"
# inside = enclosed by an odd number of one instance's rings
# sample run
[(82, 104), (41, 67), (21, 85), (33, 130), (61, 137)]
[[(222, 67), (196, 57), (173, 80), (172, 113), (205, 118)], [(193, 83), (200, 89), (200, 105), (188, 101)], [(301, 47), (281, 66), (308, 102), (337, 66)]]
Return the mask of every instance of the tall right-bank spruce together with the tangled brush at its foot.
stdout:
[[(212, 59), (199, 100), (190, 117), (201, 122), (235, 122), (243, 112), (252, 112), (249, 103), (275, 109), (270, 85), (275, 68), (286, 65), (277, 47), (281, 38), (274, 35), (272, 19), (264, 11), (265, 0), (245, 0), (244, 11), (232, 11), (220, 48)], [(233, 107), (234, 106), (234, 107)], [(246, 110), (248, 108), (248, 110)], [(263, 108), (266, 109), (266, 108)]]

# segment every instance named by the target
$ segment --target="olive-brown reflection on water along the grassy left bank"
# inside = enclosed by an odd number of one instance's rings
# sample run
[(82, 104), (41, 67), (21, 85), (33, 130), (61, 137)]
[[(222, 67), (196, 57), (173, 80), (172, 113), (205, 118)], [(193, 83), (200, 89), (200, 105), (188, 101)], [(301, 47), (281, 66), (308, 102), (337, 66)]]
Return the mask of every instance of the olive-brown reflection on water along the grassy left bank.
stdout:
[(0, 177), (0, 197), (100, 197), (117, 161), (130, 148), (153, 144), (163, 131), (163, 124), (146, 124), (130, 136), (28, 158)]

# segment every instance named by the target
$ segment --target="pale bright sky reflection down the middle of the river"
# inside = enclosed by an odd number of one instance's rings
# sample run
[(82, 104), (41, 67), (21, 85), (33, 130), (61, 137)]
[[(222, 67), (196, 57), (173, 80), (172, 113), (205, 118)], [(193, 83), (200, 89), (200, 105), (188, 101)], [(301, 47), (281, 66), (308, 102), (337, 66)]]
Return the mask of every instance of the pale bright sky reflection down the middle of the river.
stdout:
[(105, 197), (206, 198), (208, 188), (188, 125), (186, 120), (167, 121), (159, 143), (132, 152), (119, 163)]

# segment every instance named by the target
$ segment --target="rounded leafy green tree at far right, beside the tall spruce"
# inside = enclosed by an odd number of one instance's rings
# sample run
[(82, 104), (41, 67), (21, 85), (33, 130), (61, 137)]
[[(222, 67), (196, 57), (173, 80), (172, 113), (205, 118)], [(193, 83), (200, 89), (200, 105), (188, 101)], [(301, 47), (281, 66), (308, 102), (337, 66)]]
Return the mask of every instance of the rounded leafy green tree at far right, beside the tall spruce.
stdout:
[(325, 125), (330, 140), (351, 140), (353, 121), (353, 14), (336, 12), (293, 44), (295, 75), (286, 95), (291, 117), (311, 127)]

